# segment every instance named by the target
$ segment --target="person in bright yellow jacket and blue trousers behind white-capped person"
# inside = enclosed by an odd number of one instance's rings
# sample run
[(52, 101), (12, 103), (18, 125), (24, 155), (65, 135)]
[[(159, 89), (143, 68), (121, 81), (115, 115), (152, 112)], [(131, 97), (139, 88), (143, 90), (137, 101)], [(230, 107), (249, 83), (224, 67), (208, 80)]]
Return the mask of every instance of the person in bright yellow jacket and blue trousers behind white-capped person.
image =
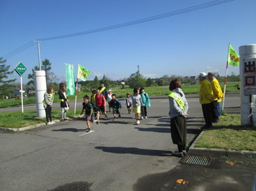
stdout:
[(223, 92), (221, 90), (221, 85), (219, 85), (219, 81), (213, 76), (213, 73), (208, 73), (207, 77), (211, 83), (211, 89), (213, 90), (213, 112), (211, 118), (213, 119), (213, 123), (217, 123), (219, 121), (219, 116), (221, 116), (219, 103), (222, 101)]

